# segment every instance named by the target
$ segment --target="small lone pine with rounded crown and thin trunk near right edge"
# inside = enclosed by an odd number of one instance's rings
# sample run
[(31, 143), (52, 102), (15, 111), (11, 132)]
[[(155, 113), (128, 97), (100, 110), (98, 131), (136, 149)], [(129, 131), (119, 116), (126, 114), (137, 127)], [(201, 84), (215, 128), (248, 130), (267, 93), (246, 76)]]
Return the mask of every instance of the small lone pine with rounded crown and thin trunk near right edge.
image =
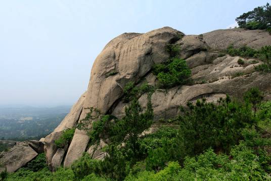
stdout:
[(247, 103), (250, 103), (252, 105), (252, 108), (254, 110), (254, 117), (255, 117), (256, 110), (260, 106), (263, 100), (263, 93), (260, 92), (259, 88), (252, 87), (244, 94), (244, 100)]

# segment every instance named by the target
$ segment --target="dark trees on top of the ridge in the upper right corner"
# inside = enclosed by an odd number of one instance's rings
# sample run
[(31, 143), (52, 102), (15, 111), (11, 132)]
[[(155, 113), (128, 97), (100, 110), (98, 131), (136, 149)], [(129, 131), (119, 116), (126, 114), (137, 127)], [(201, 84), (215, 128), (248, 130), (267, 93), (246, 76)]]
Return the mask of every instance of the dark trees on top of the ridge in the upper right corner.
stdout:
[(254, 10), (243, 13), (236, 18), (240, 28), (246, 29), (267, 29), (271, 33), (271, 6), (254, 8)]

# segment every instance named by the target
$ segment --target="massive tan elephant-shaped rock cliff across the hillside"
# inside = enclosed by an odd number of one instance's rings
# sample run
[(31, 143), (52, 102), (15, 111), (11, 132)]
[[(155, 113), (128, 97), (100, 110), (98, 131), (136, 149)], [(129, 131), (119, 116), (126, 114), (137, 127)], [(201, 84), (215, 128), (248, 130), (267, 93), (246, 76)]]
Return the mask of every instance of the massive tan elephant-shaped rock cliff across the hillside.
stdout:
[[(202, 84), (176, 86), (167, 91), (159, 89), (154, 92), (151, 101), (155, 120), (173, 117), (180, 105), (186, 105), (188, 101), (199, 98), (216, 101), (226, 94), (242, 97), (242, 93), (252, 86), (258, 86), (265, 92), (265, 99), (271, 99), (270, 73), (254, 72), (256, 64), (239, 66), (239, 57), (219, 56), (218, 51), (224, 50), (231, 43), (237, 48), (247, 45), (257, 49), (271, 44), (271, 36), (261, 30), (247, 31), (238, 28), (216, 30), (201, 36), (184, 35), (180, 31), (164, 27), (144, 34), (124, 33), (114, 38), (96, 58), (87, 91), (61, 124), (46, 137), (44, 151), (48, 165), (52, 169), (62, 162), (64, 166), (70, 166), (83, 152), (91, 152), (92, 148), (87, 148), (88, 135), (83, 130), (75, 130), (67, 148), (57, 148), (54, 141), (60, 137), (63, 130), (76, 126), (89, 112), (90, 107), (98, 108), (104, 114), (121, 117), (126, 105), (121, 99), (125, 84), (129, 81), (140, 84), (142, 79), (146, 79), (149, 84), (154, 85), (157, 80), (151, 68), (153, 64), (169, 58), (165, 51), (167, 44), (180, 47), (179, 57), (186, 59), (192, 70), (192, 78)], [(249, 61), (252, 59), (245, 60)], [(233, 78), (236, 73), (246, 75)], [(139, 101), (143, 108), (146, 107), (146, 95)]]

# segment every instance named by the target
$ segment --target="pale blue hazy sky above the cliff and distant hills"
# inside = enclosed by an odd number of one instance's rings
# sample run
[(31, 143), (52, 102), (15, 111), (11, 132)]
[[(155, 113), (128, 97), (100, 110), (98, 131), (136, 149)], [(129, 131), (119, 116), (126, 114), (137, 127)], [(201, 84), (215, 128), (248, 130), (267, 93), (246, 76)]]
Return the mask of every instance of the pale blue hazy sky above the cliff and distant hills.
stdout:
[(0, 0), (0, 105), (72, 105), (105, 44), (163, 26), (200, 34), (234, 26), (261, 0)]

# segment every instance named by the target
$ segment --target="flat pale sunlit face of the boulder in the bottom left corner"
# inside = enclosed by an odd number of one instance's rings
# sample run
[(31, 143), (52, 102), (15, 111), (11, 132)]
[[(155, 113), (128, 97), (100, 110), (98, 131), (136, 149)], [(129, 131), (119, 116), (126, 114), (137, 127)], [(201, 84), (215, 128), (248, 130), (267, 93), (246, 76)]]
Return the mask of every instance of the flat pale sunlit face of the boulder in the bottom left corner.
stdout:
[(1, 154), (0, 172), (5, 171), (5, 167), (7, 167), (7, 171), (9, 173), (14, 172), (24, 166), (27, 162), (31, 161), (36, 156), (37, 153), (28, 145), (16, 145), (8, 152)]

